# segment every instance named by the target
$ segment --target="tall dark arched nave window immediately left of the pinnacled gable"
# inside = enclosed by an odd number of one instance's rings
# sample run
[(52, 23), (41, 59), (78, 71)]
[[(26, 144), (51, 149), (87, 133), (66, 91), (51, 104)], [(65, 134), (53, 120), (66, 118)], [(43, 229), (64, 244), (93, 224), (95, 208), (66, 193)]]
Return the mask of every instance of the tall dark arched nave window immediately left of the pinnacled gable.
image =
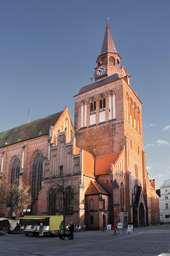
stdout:
[(32, 198), (35, 199), (41, 190), (41, 182), (43, 177), (43, 156), (40, 152), (36, 154), (32, 161)]

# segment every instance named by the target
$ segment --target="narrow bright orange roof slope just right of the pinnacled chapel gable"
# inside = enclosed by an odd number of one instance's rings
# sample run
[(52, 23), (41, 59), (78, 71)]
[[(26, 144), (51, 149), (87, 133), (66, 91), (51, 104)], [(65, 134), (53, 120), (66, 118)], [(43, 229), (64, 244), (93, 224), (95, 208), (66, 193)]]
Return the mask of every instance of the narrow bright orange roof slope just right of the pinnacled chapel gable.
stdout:
[(84, 175), (95, 178), (94, 177), (94, 156), (93, 154), (90, 154), (89, 152), (84, 150)]

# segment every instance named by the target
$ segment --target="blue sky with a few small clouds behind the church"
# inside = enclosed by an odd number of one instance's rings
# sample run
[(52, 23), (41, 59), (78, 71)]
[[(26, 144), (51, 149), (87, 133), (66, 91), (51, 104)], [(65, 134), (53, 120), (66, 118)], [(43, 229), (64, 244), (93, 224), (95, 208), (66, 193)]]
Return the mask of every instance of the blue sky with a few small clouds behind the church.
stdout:
[(170, 179), (170, 1), (0, 0), (0, 132), (68, 106), (90, 82), (106, 16), (143, 103), (147, 171)]

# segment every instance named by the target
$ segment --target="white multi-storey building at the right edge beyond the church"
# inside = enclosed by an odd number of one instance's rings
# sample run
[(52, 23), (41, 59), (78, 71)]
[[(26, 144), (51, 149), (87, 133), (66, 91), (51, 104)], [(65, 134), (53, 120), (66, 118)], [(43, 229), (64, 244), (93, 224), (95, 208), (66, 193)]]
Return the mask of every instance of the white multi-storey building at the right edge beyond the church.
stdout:
[(160, 220), (170, 222), (170, 180), (160, 186)]

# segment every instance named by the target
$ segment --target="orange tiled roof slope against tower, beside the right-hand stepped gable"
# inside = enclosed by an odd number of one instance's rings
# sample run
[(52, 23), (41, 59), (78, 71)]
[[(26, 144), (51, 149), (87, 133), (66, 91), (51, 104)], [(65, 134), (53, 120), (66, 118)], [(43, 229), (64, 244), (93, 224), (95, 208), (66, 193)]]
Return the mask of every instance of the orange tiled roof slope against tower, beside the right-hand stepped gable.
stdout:
[(107, 174), (110, 172), (110, 165), (115, 164), (121, 152), (110, 154), (107, 156), (96, 157), (95, 160), (95, 175)]

